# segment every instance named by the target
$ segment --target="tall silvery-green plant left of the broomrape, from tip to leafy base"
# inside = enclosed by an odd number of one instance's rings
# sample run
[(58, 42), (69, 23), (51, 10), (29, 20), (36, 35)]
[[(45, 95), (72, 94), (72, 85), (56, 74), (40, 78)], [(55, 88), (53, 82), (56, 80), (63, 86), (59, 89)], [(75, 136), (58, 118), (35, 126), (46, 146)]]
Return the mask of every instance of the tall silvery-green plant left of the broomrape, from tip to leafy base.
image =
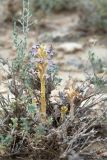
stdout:
[[(26, 100), (26, 96), (23, 95), (23, 89), (27, 85), (24, 86), (24, 84), (19, 83), (19, 81), (22, 81), (23, 78), (27, 79), (27, 75), (28, 75), (27, 67), (29, 67), (29, 65), (26, 66), (24, 60), (28, 54), (27, 36), (29, 32), (29, 26), (30, 26), (29, 22), (30, 22), (31, 14), (29, 10), (29, 0), (23, 0), (22, 2), (23, 2), (23, 11), (22, 11), (22, 17), (19, 20), (19, 23), (21, 25), (17, 27), (17, 22), (14, 22), (14, 30), (13, 30), (14, 45), (16, 47), (16, 58), (12, 62), (12, 67), (10, 67), (12, 81), (10, 83), (9, 89), (11, 93), (15, 95), (15, 98), (13, 102), (4, 99), (6, 101), (6, 103), (4, 103), (6, 105), (6, 109), (5, 109), (6, 117), (4, 116), (4, 119), (2, 122), (3, 131), (1, 129), (0, 146), (10, 147), (13, 141), (14, 143), (17, 143), (16, 142), (17, 134), (20, 134), (23, 131), (28, 133), (30, 130), (31, 121), (29, 120), (29, 117), (27, 115), (27, 111), (26, 111), (27, 107), (25, 108), (24, 106), (26, 105), (26, 103), (27, 104), (29, 103), (28, 102), (29, 100), (28, 99)], [(19, 75), (17, 76), (16, 73), (18, 71), (19, 71)], [(26, 83), (27, 82), (28, 80), (26, 80)], [(20, 89), (22, 89), (22, 91)], [(21, 138), (23, 139), (23, 135)], [(8, 149), (11, 150), (11, 147)], [(12, 150), (15, 151), (15, 145), (13, 146)]]

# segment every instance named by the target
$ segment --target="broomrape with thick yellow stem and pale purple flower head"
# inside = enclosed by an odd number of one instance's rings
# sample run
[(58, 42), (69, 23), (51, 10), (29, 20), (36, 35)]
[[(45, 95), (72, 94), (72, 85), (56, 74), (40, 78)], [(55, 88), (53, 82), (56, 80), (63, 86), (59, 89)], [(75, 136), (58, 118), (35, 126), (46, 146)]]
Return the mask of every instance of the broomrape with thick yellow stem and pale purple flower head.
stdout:
[(32, 55), (38, 72), (41, 84), (41, 120), (46, 120), (46, 76), (47, 70), (53, 66), (52, 56), (54, 52), (52, 46), (37, 44), (32, 46)]

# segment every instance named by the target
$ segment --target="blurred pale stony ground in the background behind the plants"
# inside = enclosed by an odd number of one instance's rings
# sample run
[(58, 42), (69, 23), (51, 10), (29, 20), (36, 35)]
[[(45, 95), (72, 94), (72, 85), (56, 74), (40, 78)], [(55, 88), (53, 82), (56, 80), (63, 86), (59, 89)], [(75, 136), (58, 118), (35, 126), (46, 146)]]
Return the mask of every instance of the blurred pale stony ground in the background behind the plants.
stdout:
[[(56, 51), (55, 62), (59, 66), (62, 84), (71, 76), (73, 79), (84, 80), (88, 67), (88, 52), (93, 50), (97, 56), (105, 59), (107, 55), (106, 36), (87, 35), (78, 31), (79, 16), (77, 14), (54, 14), (43, 18), (34, 18), (34, 25), (29, 33), (28, 48), (37, 42), (52, 43)], [(36, 24), (35, 24), (36, 22)], [(16, 51), (12, 39), (12, 25), (0, 24), (0, 56), (11, 61)], [(86, 67), (86, 68), (87, 68)], [(6, 73), (0, 68), (0, 92), (7, 92)]]

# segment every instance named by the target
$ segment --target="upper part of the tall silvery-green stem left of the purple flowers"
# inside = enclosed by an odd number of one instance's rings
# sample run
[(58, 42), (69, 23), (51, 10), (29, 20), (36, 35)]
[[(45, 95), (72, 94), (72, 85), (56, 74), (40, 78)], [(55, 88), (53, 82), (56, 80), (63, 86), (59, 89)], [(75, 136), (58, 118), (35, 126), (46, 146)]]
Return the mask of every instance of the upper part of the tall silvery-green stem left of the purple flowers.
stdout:
[(13, 70), (21, 67), (25, 55), (27, 55), (27, 35), (29, 32), (29, 26), (31, 25), (31, 13), (29, 9), (29, 0), (23, 0), (22, 17), (18, 22), (21, 28), (17, 26), (17, 21), (14, 22), (13, 40), (16, 47), (16, 60), (13, 61)]

